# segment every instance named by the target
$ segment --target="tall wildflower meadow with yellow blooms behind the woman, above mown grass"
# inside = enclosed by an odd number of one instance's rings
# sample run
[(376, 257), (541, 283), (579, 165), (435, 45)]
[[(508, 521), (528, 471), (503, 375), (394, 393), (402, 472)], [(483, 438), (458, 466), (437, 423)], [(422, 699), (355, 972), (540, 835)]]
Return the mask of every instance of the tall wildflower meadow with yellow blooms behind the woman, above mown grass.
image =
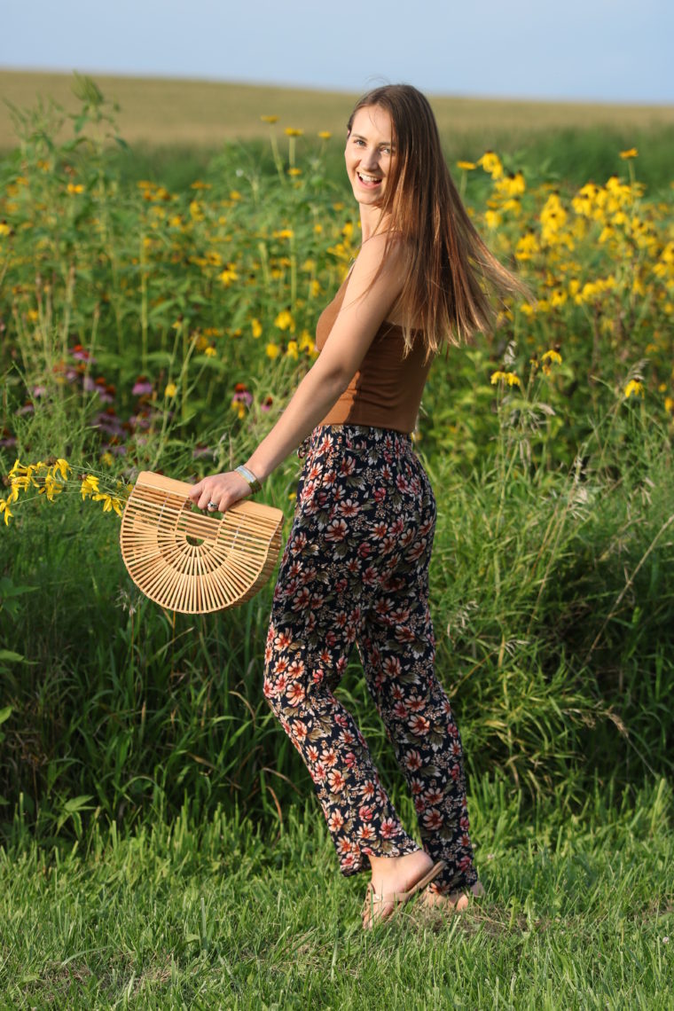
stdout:
[[(282, 820), (306, 785), (260, 699), (269, 588), (164, 613), (126, 576), (118, 517), (138, 470), (196, 479), (269, 430), (357, 212), (329, 133), (273, 110), (264, 165), (231, 145), (179, 191), (129, 183), (108, 105), (77, 86), (71, 139), (56, 108), (19, 113), (0, 165), (5, 829), (77, 834), (89, 812), (132, 823), (186, 798)], [(452, 166), (534, 297), (436, 362), (415, 433), (444, 504), (439, 664), (471, 769), (532, 796), (671, 770), (672, 190), (645, 191), (636, 149), (614, 160), (580, 187), (507, 152)], [(297, 466), (265, 489), (288, 520)], [(344, 692), (383, 740), (359, 678)]]

